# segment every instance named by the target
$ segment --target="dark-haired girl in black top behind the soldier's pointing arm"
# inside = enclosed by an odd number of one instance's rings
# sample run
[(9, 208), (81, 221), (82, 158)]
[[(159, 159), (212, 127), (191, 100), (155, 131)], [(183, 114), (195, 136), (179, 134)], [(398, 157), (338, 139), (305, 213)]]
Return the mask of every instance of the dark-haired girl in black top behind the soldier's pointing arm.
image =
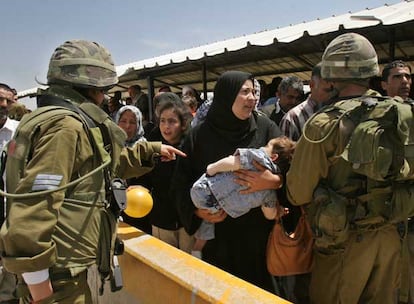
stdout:
[[(148, 135), (148, 140), (179, 147), (192, 119), (190, 110), (176, 94), (170, 92), (159, 95), (157, 102), (155, 113), (158, 125)], [(170, 193), (175, 163), (159, 162), (151, 172), (140, 178), (139, 184), (151, 191), (154, 200), (149, 214), (152, 235), (189, 253), (194, 238), (184, 230)]]

